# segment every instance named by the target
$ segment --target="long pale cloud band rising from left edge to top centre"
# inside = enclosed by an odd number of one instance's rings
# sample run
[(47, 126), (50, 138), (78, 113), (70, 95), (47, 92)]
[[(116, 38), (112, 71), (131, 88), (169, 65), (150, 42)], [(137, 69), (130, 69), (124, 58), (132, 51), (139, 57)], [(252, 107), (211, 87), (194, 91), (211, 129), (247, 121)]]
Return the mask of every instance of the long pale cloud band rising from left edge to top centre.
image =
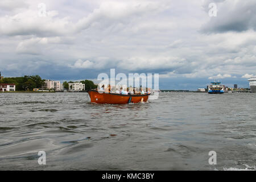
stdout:
[(92, 13), (77, 22), (72, 22), (68, 16), (59, 18), (57, 11), (46, 11), (46, 16), (39, 16), (37, 9), (27, 9), (13, 16), (0, 17), (0, 32), (9, 36), (67, 36), (89, 27), (104, 29), (113, 25), (118, 27), (118, 23), (126, 24), (138, 16), (154, 14), (165, 9), (164, 3), (154, 1), (103, 2)]

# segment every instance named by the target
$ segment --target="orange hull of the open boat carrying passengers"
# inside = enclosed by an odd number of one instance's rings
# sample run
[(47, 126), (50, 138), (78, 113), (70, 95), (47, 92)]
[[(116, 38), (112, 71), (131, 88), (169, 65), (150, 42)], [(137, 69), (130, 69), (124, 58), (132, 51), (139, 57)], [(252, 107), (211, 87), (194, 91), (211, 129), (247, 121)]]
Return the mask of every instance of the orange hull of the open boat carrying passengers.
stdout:
[(90, 102), (99, 104), (129, 104), (138, 102), (147, 102), (150, 94), (117, 94), (117, 93), (104, 93), (98, 90), (88, 90)]

